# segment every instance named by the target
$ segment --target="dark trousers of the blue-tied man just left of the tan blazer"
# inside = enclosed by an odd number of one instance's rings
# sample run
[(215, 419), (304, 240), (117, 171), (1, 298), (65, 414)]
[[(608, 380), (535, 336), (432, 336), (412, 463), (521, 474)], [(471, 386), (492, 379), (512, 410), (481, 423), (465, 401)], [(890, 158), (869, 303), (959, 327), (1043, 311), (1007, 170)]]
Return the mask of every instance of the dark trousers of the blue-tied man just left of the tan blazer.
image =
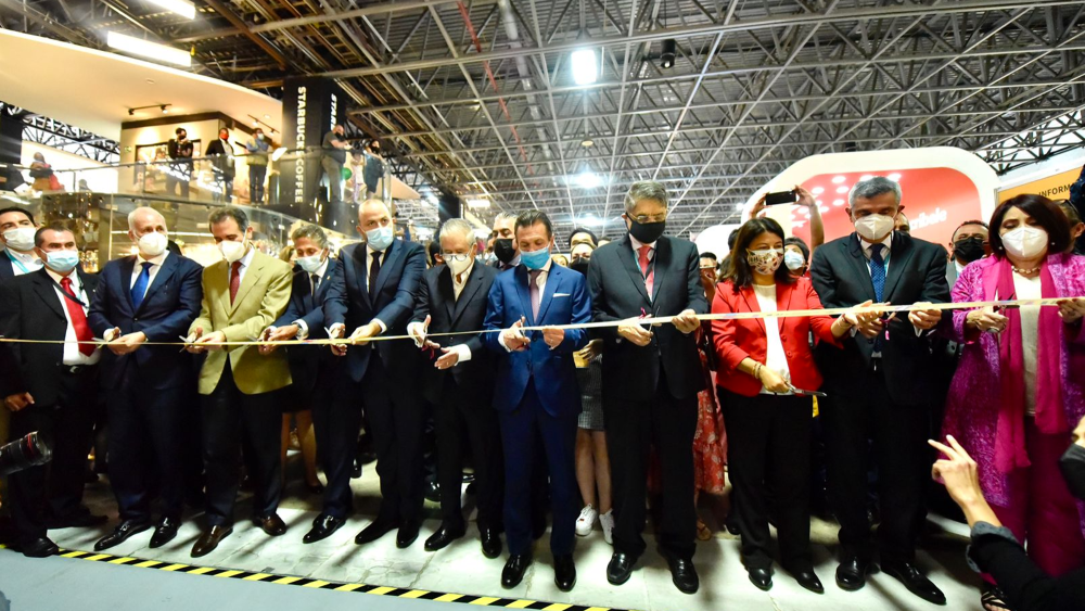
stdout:
[(155, 489), (163, 515), (180, 519), (184, 505), (181, 461), (184, 413), (182, 389), (140, 386), (131, 364), (119, 387), (105, 392), (110, 417), (110, 484), (122, 520), (150, 520)]

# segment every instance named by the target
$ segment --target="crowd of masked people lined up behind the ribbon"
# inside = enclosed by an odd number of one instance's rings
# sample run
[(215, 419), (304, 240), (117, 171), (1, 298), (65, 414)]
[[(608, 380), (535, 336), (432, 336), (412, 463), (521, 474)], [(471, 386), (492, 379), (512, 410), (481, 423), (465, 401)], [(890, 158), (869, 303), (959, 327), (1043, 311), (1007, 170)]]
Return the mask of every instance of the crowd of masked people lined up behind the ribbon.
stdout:
[[(343, 163), (326, 157), (324, 169)], [(58, 551), (49, 529), (104, 522), (81, 501), (101, 397), (120, 521), (98, 550), (145, 531), (152, 547), (176, 536), (192, 462), (179, 431), (194, 405), (204, 501), (193, 557), (231, 535), (243, 470), (248, 518), (270, 536), (286, 533), (278, 513), (286, 405), (311, 411), (327, 482), (303, 542), (328, 538), (352, 515), (365, 428), (381, 502), (355, 543), (395, 532), (406, 548), (422, 524), (432, 411), (441, 524), (424, 547), (465, 536), (470, 466), (482, 552), (496, 558), (508, 546), (505, 587), (532, 564), (547, 513), (560, 589), (574, 587), (576, 535), (596, 522), (613, 545), (607, 580), (624, 584), (647, 549), (651, 514), (674, 585), (698, 591), (694, 552), (707, 527), (697, 498), (723, 492), (726, 463), (728, 523), (751, 583), (771, 588), (778, 560), (824, 593), (809, 521), (819, 440), (840, 523), (840, 588), (863, 588), (877, 561), (916, 596), (945, 603), (916, 557), (933, 464), (974, 525), (973, 559), (1001, 558), (990, 562), (1003, 569), (984, 574), (986, 608), (1080, 603), (1085, 458), (1068, 451), (1085, 422), (1085, 257), (1072, 253), (1080, 219), (1045, 198), (1017, 196), (990, 222), (957, 228), (950, 254), (905, 230), (901, 187), (875, 177), (848, 195), (854, 232), (807, 245), (758, 205), (717, 264), (665, 234), (668, 204), (662, 184), (635, 183), (626, 232), (603, 243), (577, 229), (564, 262), (545, 213), (500, 214), (487, 262), (460, 219), (441, 227), (427, 260), (422, 244), (396, 238), (390, 207), (369, 199), (358, 211), (363, 242), (334, 256), (319, 227), (301, 227), (293, 265), (260, 252), (245, 213), (222, 206), (208, 227), (224, 260), (207, 268), (169, 252), (165, 218), (141, 207), (129, 216), (138, 254), (97, 276), (79, 269), (63, 224), (0, 211), (0, 332), (42, 341), (0, 344), (0, 396), (13, 436), (44, 431), (55, 443), (49, 469), (10, 479), (14, 547), (49, 556)], [(937, 306), (1038, 298), (1057, 307)], [(824, 307), (842, 314), (809, 313)], [(732, 316), (702, 320), (710, 313)], [(668, 321), (644, 322), (659, 317)], [(329, 341), (281, 344), (294, 340)], [(934, 442), (937, 463), (930, 438), (945, 440)], [(1004, 542), (1027, 545), (1031, 560), (1014, 565), (1034, 561), (1030, 575), (1062, 581), (1029, 591), (1020, 572), (1005, 570), (1012, 550), (980, 551), (998, 547), (996, 527)]]

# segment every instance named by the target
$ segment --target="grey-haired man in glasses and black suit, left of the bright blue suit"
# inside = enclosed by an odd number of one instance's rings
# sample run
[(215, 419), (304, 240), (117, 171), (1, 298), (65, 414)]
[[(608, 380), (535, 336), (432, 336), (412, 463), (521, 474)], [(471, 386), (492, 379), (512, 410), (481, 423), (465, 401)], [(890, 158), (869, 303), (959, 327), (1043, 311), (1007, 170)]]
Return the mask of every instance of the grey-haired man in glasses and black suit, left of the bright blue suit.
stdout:
[(425, 542), (436, 551), (465, 533), (461, 496), (463, 458), (470, 447), (477, 486), (478, 536), (487, 558), (501, 553), (501, 436), (494, 411), (494, 356), (481, 334), (429, 333), (477, 331), (498, 271), (476, 265), (471, 224), (447, 220), (439, 243), (445, 265), (425, 272), (408, 331), (416, 343), (434, 351), (422, 370), (422, 393), (434, 406), (441, 527)]

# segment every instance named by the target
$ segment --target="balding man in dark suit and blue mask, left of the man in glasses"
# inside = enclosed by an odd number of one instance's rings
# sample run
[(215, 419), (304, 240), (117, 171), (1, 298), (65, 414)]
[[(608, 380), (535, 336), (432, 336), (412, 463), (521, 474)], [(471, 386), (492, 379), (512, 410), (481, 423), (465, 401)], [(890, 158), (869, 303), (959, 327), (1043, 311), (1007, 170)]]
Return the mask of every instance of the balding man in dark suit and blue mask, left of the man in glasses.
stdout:
[(417, 379), (421, 357), (409, 342), (371, 345), (369, 340), (407, 333), (425, 271), (425, 249), (395, 239), (392, 212), (380, 200), (361, 204), (358, 231), (366, 243), (342, 250), (324, 298), (324, 324), (332, 336), (354, 331), (349, 346), (332, 346), (344, 358), (343, 373), (332, 400), (321, 408), (327, 412), (316, 422), (318, 443), (327, 446), (321, 450), (328, 478), (322, 513), (345, 519), (350, 511), (350, 466), (365, 409), (376, 445), (382, 498), (376, 520), (358, 533), (355, 543), (371, 543), (398, 529), (396, 545), (406, 548), (418, 538), (422, 522), (424, 409)]

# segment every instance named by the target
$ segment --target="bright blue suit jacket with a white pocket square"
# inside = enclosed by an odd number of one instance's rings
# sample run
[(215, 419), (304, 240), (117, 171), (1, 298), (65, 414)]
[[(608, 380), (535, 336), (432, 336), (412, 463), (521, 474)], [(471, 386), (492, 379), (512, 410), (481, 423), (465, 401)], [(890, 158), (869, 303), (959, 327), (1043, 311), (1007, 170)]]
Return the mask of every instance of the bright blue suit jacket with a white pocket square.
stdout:
[[(521, 317), (526, 319), (525, 327), (583, 324), (591, 320), (591, 298), (583, 273), (550, 264), (538, 319), (532, 316), (527, 279), (527, 267), (523, 265), (498, 275), (489, 289), (483, 329), (508, 329)], [(535, 391), (548, 413), (556, 417), (579, 413), (580, 386), (576, 382), (573, 353), (587, 345), (587, 332), (566, 330), (565, 339), (552, 351), (542, 341), (541, 331), (525, 331), (524, 334), (531, 338), (531, 345), (513, 353), (501, 344), (500, 332), (486, 333), (483, 338), (486, 346), (498, 354), (494, 408), (515, 410), (534, 378)]]

